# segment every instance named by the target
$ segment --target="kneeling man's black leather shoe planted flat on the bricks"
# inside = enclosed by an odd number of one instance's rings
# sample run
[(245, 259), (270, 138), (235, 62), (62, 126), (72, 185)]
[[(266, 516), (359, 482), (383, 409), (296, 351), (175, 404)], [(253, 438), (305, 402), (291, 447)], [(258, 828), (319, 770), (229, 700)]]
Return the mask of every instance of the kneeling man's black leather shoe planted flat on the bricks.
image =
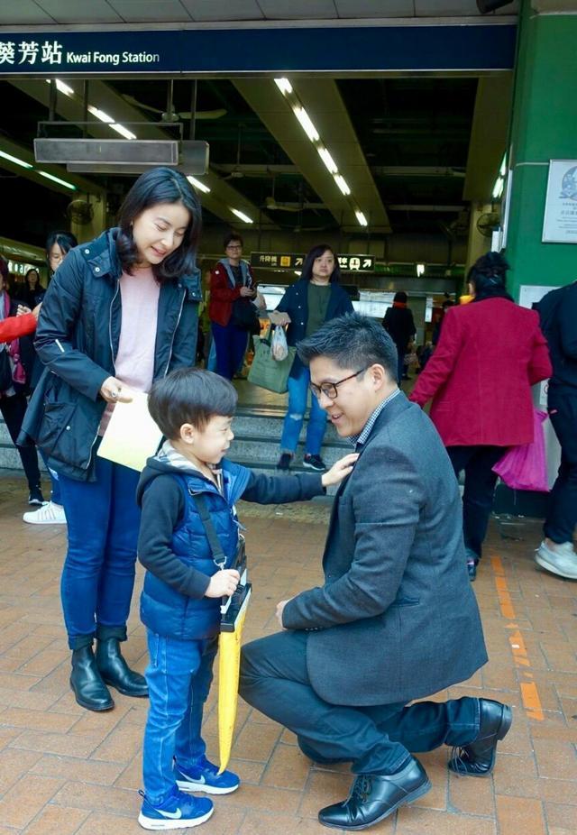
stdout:
[(347, 799), (321, 809), (318, 820), (337, 830), (366, 830), (430, 788), (425, 769), (411, 757), (397, 774), (358, 775)]

